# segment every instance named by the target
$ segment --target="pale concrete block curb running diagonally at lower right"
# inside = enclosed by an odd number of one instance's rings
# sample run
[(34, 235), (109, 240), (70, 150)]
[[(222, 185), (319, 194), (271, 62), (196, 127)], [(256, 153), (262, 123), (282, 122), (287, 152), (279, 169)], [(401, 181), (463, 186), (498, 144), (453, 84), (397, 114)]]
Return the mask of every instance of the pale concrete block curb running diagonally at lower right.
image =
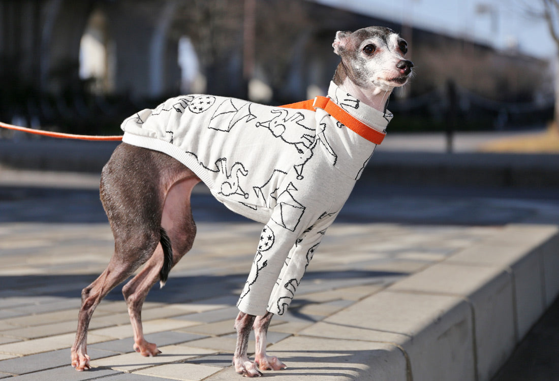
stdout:
[(486, 381), (557, 294), (559, 226), (508, 225), (269, 352), (285, 356), (297, 348), (320, 357), (328, 353), (324, 339), (340, 339), (334, 352), (352, 348), (351, 379)]

